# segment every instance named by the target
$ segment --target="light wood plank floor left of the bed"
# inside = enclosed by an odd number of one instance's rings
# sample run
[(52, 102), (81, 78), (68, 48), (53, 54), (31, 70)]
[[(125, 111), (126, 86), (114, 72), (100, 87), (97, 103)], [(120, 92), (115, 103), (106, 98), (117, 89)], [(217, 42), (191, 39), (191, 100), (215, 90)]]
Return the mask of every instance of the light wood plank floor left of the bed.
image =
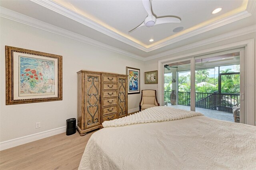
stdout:
[(66, 133), (0, 151), (1, 170), (77, 170), (90, 136)]

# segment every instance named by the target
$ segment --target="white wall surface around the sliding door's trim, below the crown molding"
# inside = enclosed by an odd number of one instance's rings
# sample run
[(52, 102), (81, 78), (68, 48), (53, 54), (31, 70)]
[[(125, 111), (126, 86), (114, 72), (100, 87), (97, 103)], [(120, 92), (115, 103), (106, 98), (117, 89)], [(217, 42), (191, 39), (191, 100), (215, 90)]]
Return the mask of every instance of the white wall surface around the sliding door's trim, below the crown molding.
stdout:
[[(145, 72), (151, 71), (151, 70), (158, 70), (158, 61), (162, 60), (162, 59), (172, 58), (172, 57), (180, 56), (180, 55), (185, 55), (185, 54), (189, 54), (189, 53), (192, 53), (192, 52), (197, 52), (197, 51), (200, 51), (200, 50), (205, 50), (205, 49), (209, 49), (209, 48), (214, 48), (214, 47), (218, 47), (218, 46), (232, 44), (232, 43), (240, 42), (240, 41), (243, 41), (243, 40), (249, 40), (249, 39), (252, 39), (252, 38), (254, 38), (254, 58), (256, 58), (256, 42), (255, 42), (256, 32), (253, 32), (253, 33), (250, 33), (250, 34), (245, 34), (243, 36), (238, 36), (238, 37), (235, 37), (235, 38), (230, 38), (230, 39), (227, 39), (227, 40), (223, 40), (223, 41), (220, 41), (220, 42), (208, 44), (208, 45), (205, 45), (205, 46), (200, 46), (198, 48), (193, 48), (191, 50), (186, 50), (186, 51), (178, 52), (178, 53), (171, 54), (171, 55), (168, 55), (168, 56), (164, 56), (164, 57), (161, 57), (161, 58), (148, 60), (148, 61), (145, 62)], [(255, 62), (254, 65), (256, 66), (256, 60), (255, 59), (254, 59), (254, 62)], [(256, 69), (254, 69), (254, 75), (255, 75), (254, 79), (256, 80)], [(148, 84), (145, 84), (144, 88), (145, 89), (150, 88), (150, 89), (157, 90), (157, 95), (158, 95), (158, 84), (150, 85), (150, 87), (148, 86)], [(256, 85), (254, 83), (254, 91), (255, 91), (254, 101), (256, 101), (256, 90), (255, 89), (256, 89)], [(256, 122), (256, 104), (254, 104), (254, 110), (255, 110), (255, 112), (254, 112), (254, 119), (255, 119), (254, 122)]]

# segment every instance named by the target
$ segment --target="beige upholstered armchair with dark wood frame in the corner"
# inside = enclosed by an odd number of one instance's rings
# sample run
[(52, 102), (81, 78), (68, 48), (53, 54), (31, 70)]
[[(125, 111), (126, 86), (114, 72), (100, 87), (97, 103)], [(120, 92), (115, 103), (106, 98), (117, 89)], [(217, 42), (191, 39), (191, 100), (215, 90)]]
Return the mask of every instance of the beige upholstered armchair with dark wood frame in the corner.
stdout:
[(160, 106), (156, 98), (156, 90), (141, 90), (140, 111)]

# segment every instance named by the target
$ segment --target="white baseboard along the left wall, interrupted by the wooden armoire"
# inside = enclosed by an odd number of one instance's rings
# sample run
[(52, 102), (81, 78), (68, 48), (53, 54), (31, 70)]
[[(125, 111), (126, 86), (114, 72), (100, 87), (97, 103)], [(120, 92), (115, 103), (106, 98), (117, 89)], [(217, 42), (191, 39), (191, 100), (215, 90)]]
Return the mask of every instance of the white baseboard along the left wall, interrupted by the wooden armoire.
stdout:
[[(137, 112), (139, 110), (140, 110), (140, 108), (130, 109), (130, 110), (128, 110), (128, 114), (133, 113), (133, 112)], [(56, 128), (56, 129), (46, 130), (44, 132), (39, 132), (39, 133), (36, 133), (36, 134), (30, 134), (30, 135), (27, 135), (27, 136), (22, 136), (20, 138), (6, 140), (4, 142), (0, 142), (0, 150), (6, 150), (8, 148), (12, 148), (12, 147), (15, 147), (15, 146), (19, 146), (19, 145), (22, 145), (22, 144), (33, 142), (33, 141), (36, 141), (36, 140), (40, 140), (40, 139), (43, 139), (43, 138), (54, 136), (56, 134), (61, 134), (61, 133), (64, 133), (64, 132), (66, 132), (66, 126), (62, 126), (60, 128)]]

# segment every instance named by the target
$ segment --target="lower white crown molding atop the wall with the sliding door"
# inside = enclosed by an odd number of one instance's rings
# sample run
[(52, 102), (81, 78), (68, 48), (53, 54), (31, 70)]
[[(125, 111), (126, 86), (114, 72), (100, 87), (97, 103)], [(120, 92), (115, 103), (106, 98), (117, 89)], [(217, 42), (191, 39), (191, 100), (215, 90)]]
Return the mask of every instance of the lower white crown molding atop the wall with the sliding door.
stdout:
[(208, 38), (208, 39), (205, 39), (205, 40), (194, 42), (192, 44), (188, 44), (188, 45), (185, 45), (185, 46), (182, 46), (182, 47), (174, 48), (172, 50), (161, 52), (161, 53), (156, 54), (156, 55), (148, 56), (144, 59), (144, 61), (153, 60), (153, 59), (160, 58), (160, 57), (163, 57), (163, 56), (168, 56), (170, 54), (182, 52), (182, 51), (185, 51), (185, 50), (190, 50), (192, 48), (197, 48), (197, 47), (200, 47), (200, 46), (204, 46), (204, 45), (207, 45), (207, 44), (212, 44), (214, 42), (223, 41), (223, 40), (226, 40), (226, 39), (229, 39), (229, 38), (234, 38), (234, 37), (237, 37), (237, 36), (242, 36), (242, 35), (249, 34), (249, 33), (252, 33), (252, 32), (256, 32), (256, 25), (241, 28), (239, 30), (235, 30), (235, 31), (232, 31), (232, 32), (228, 32), (228, 33), (225, 33), (225, 34), (214, 36), (212, 38)]

